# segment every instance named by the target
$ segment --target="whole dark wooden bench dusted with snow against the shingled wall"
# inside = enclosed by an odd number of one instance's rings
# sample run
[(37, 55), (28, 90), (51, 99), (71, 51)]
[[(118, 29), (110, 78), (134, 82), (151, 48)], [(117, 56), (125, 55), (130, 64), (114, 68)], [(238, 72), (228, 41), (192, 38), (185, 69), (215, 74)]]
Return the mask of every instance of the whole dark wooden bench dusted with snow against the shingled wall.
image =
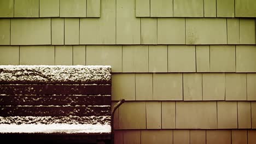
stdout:
[(110, 96), (109, 66), (1, 65), (0, 139), (110, 143)]

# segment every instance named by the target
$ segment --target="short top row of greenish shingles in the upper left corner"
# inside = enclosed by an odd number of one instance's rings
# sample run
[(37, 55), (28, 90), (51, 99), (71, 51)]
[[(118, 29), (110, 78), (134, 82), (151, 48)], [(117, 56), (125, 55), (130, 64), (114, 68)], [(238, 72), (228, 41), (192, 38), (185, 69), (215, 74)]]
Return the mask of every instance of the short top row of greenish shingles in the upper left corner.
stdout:
[(4, 0), (0, 17), (100, 17), (100, 0)]

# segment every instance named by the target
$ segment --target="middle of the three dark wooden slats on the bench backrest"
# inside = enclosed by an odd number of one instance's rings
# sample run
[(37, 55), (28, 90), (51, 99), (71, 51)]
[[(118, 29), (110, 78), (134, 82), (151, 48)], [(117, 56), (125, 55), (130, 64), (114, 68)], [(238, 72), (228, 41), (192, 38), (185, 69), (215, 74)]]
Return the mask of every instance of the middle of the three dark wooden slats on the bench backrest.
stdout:
[(0, 95), (0, 105), (111, 105), (111, 97), (94, 95)]

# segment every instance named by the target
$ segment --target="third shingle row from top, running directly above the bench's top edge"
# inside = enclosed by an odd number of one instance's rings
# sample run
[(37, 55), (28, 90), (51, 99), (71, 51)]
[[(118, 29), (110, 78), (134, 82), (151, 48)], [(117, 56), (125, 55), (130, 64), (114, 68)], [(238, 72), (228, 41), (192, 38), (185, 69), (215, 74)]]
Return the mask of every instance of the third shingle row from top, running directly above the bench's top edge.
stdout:
[[(23, 62), (23, 57), (19, 59), (15, 56), (19, 53), (17, 47), (19, 46), (1, 46), (1, 64), (8, 62), (17, 64), (18, 60), (21, 60), (21, 64), (29, 63)], [(54, 59), (54, 55), (48, 54), (54, 54), (51, 51), (54, 46), (20, 47), (21, 53), (26, 52), (27, 55), (37, 56), (37, 59), (34, 59), (34, 64), (53, 63), (50, 59)], [(29, 51), (29, 47), (37, 47), (37, 49), (33, 49), (36, 54)], [(56, 47), (72, 49), (72, 45)], [(87, 54), (84, 52), (85, 45), (74, 45), (73, 47), (84, 47), (84, 49), (75, 50), (83, 53), (79, 59), (85, 59), (85, 57), (87, 59), (86, 63), (77, 60), (78, 62), (74, 64), (112, 65), (114, 73), (252, 73), (256, 71), (256, 49), (253, 45), (88, 45), (86, 46)], [(11, 53), (8, 50), (12, 50), (13, 57), (9, 57)], [(62, 54), (65, 54), (66, 58), (69, 55), (72, 56), (72, 53), (68, 53), (68, 51), (65, 53), (64, 49)], [(30, 60), (33, 59), (33, 56)], [(44, 61), (42, 56), (48, 57), (49, 61)], [(68, 59), (62, 59), (62, 61), (63, 64), (70, 64)]]

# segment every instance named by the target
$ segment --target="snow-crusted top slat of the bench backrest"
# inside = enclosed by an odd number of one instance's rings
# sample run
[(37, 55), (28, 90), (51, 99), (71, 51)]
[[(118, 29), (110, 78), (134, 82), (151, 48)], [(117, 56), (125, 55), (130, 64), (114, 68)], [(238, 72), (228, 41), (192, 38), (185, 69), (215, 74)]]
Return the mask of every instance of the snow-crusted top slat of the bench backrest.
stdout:
[(82, 82), (111, 79), (108, 65), (0, 65), (1, 81)]

